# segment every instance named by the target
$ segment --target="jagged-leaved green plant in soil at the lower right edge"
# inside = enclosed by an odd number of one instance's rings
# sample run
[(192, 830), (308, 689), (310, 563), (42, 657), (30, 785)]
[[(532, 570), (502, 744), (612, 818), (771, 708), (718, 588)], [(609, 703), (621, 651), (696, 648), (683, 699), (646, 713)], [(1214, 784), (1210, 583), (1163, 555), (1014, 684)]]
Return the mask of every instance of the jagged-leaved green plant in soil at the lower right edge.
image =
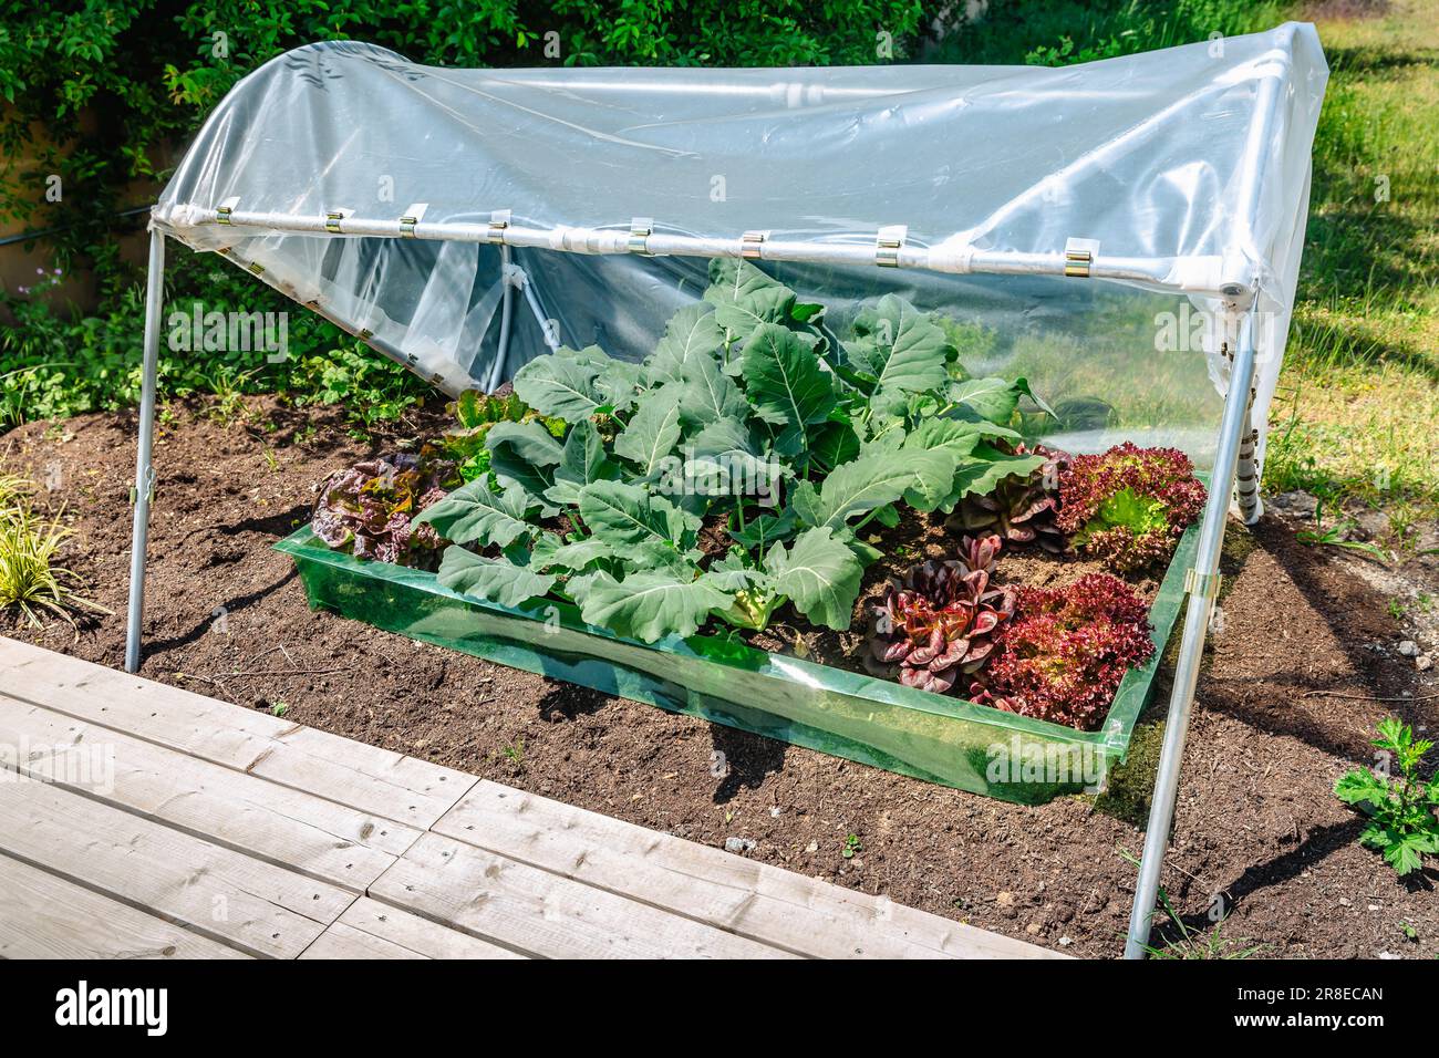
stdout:
[(1425, 856), (1439, 855), (1439, 773), (1427, 783), (1419, 777), (1433, 741), (1416, 740), (1409, 724), (1389, 717), (1379, 723), (1373, 744), (1383, 754), (1384, 773), (1354, 769), (1335, 783), (1334, 796), (1368, 813), (1360, 844), (1381, 852), (1396, 874), (1406, 875), (1419, 871)]

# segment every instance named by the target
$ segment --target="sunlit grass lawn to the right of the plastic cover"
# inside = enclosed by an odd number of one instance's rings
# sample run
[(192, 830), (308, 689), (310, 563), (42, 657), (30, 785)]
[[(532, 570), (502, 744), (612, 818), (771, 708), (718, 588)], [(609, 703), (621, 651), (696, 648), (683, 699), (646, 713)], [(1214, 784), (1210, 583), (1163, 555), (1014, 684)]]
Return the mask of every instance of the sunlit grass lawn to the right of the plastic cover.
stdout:
[(1302, 12), (1333, 79), (1265, 487), (1383, 507), (1403, 546), (1439, 517), (1439, 3), (1363, 7)]

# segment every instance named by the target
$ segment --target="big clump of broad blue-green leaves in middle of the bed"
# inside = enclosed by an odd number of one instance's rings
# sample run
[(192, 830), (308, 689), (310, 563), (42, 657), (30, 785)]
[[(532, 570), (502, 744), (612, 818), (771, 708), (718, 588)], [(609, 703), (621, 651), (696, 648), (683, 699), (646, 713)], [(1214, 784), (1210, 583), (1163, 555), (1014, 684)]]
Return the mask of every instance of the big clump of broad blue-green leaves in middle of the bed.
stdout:
[(717, 261), (643, 363), (591, 345), (521, 369), (517, 397), (566, 426), (491, 425), (491, 474), (417, 523), (453, 541), (448, 587), (505, 606), (564, 599), (645, 642), (711, 619), (763, 629), (783, 606), (843, 630), (879, 557), (868, 523), (948, 512), (1043, 462), (993, 443), (1017, 440), (1006, 423), (1027, 384), (955, 380), (953, 360), (945, 331), (901, 298), (842, 341), (822, 305)]

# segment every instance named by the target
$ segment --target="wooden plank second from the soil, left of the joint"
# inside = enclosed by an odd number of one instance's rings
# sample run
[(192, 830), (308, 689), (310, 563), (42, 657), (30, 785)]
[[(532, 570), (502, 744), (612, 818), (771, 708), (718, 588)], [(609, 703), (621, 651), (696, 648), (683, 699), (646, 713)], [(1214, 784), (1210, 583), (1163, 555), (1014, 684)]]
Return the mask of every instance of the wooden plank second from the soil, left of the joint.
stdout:
[(0, 766), (355, 894), (422, 833), (3, 694)]

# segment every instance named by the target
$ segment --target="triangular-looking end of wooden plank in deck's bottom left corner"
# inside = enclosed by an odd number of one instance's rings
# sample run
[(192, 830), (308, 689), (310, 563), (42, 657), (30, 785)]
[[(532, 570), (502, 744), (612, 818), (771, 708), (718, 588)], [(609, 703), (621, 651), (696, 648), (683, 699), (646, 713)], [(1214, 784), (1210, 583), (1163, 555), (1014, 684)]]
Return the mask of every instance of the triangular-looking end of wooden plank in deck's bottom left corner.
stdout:
[(0, 959), (248, 959), (243, 951), (0, 856)]

